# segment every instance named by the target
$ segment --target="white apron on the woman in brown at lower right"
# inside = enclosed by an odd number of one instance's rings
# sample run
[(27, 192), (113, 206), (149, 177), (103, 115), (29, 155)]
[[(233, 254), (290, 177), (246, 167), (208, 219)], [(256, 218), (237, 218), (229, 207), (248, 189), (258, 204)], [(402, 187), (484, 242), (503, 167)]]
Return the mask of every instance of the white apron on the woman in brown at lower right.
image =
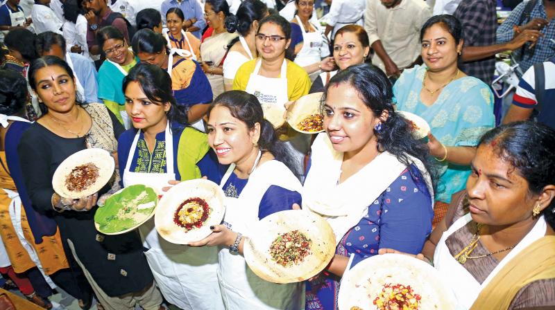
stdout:
[(456, 300), (458, 302), (456, 309), (470, 309), (472, 304), (478, 298), (479, 293), (484, 289), (489, 282), (499, 273), (499, 271), (511, 260), (518, 255), (521, 250), (527, 248), (534, 241), (545, 236), (547, 224), (544, 217), (540, 217), (535, 226), (533, 226), (530, 233), (522, 239), (513, 250), (502, 259), (501, 262), (493, 269), (488, 275), (484, 283), (480, 284), (468, 271), (451, 255), (445, 240), (452, 235), (456, 230), (459, 230), (472, 221), (470, 213), (456, 220), (438, 242), (436, 251), (434, 253), (434, 266), (441, 273), (443, 280), (450, 284)]

